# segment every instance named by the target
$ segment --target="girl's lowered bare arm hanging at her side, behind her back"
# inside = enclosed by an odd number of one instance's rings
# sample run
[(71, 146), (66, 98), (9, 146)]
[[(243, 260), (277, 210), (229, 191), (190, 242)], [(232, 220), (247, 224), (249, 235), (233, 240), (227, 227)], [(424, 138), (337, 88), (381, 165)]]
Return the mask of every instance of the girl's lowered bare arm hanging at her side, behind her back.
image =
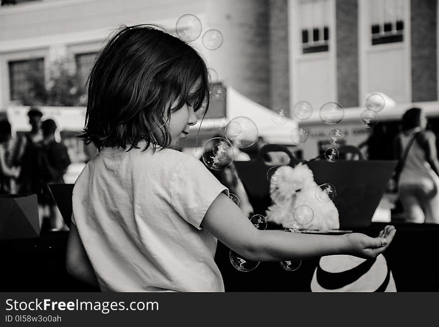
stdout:
[(67, 240), (66, 253), (67, 272), (79, 279), (81, 282), (87, 283), (99, 289), (99, 283), (82, 245), (78, 229), (74, 223), (70, 224), (70, 232)]

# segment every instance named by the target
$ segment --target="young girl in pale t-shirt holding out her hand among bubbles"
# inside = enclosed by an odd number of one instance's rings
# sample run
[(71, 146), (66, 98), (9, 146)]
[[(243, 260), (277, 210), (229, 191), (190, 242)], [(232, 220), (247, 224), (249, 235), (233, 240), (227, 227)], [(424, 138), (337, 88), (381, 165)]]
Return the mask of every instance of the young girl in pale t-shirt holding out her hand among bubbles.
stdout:
[(99, 153), (73, 190), (67, 270), (102, 291), (223, 292), (217, 239), (245, 258), (374, 258), (379, 237), (260, 231), (195, 157), (174, 150), (209, 104), (202, 57), (150, 25), (121, 28), (91, 70), (81, 137)]

